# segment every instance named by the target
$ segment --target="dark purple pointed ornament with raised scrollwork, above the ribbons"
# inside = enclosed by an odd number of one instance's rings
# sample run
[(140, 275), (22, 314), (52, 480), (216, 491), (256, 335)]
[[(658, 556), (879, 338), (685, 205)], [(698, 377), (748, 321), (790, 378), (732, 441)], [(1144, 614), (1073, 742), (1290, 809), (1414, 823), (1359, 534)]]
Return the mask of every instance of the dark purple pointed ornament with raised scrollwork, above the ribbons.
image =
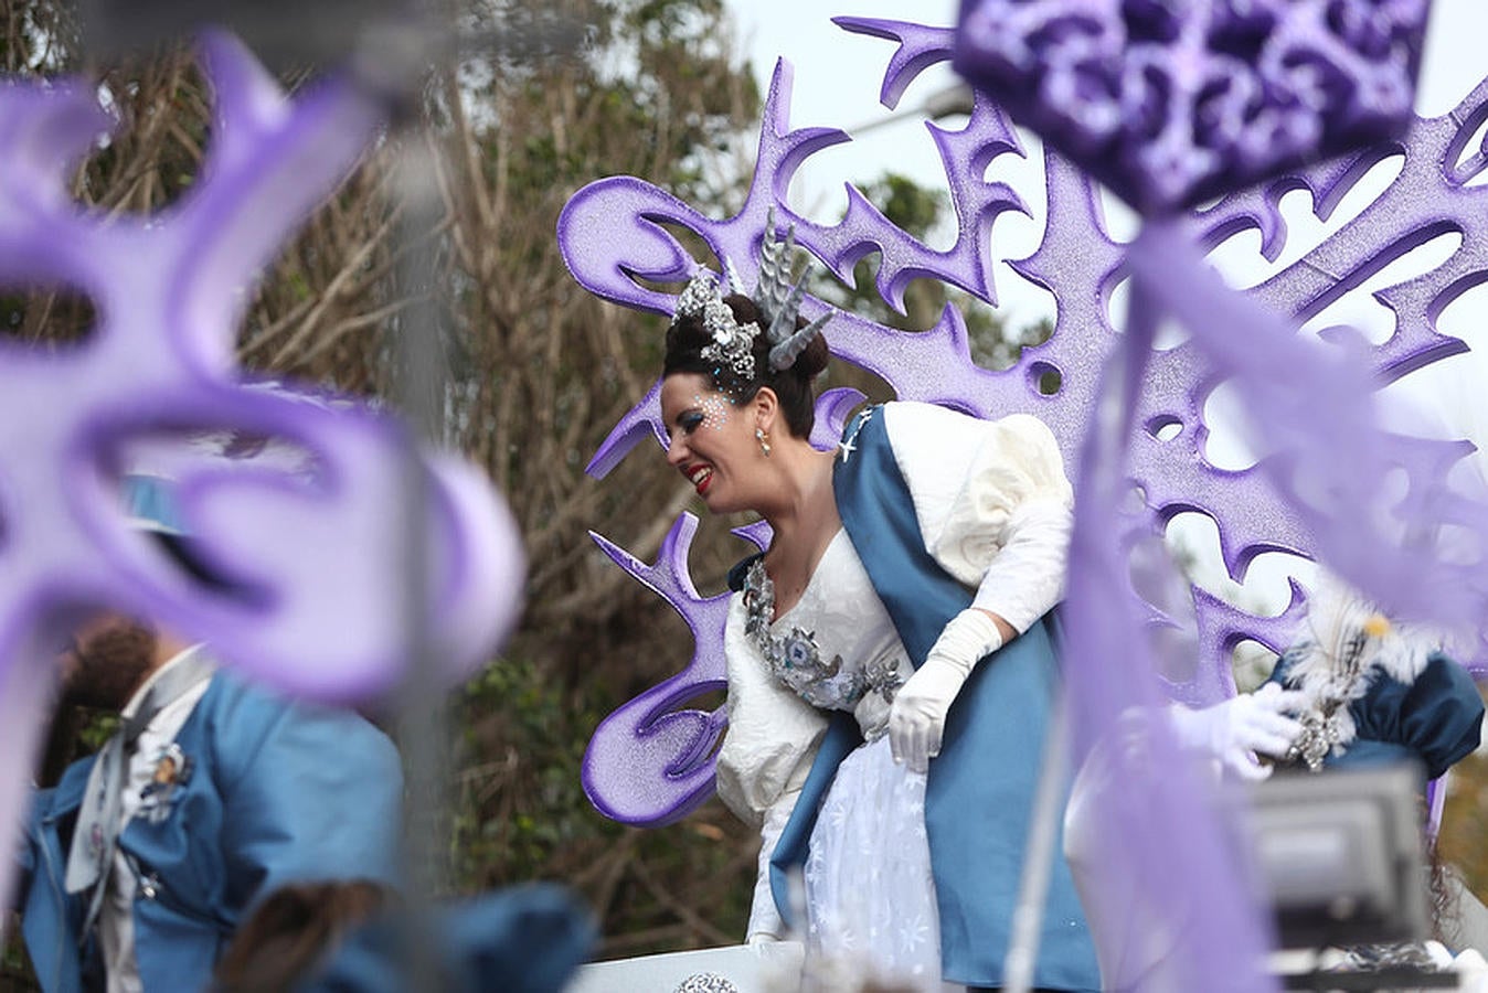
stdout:
[(1143, 214), (1396, 134), (1427, 0), (963, 0), (955, 65)]

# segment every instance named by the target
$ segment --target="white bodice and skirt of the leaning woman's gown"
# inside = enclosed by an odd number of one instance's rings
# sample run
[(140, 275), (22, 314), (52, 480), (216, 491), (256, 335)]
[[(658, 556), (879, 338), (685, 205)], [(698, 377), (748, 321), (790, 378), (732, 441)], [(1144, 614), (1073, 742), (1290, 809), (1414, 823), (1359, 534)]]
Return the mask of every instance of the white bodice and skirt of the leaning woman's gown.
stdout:
[(838, 767), (811, 834), (808, 968), (940, 990), (926, 776), (893, 761), (885, 734), (893, 693), (912, 667), (851, 540), (836, 534), (801, 601), (768, 624), (768, 639), (737, 630), (738, 614), (731, 611), (731, 654), (751, 653), (777, 685), (817, 709), (853, 712), (866, 740)]

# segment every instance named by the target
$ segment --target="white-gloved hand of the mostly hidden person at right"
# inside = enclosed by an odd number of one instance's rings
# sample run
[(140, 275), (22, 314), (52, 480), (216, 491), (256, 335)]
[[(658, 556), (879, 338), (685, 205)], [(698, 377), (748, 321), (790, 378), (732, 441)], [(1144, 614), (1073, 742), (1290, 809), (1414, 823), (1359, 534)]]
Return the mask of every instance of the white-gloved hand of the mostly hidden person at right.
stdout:
[(1302, 725), (1287, 717), (1301, 711), (1306, 699), (1296, 690), (1268, 682), (1254, 693), (1193, 711), (1181, 705), (1168, 708), (1178, 745), (1210, 752), (1241, 779), (1265, 779), (1269, 766), (1256, 761), (1256, 752), (1284, 758), (1302, 733)]

